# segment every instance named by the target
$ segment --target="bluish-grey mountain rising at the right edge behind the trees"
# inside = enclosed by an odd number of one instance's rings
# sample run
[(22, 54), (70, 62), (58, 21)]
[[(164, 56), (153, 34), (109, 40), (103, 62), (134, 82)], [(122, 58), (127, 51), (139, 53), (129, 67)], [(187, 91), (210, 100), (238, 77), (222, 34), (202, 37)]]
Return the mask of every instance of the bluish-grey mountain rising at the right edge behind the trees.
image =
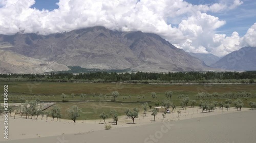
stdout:
[(244, 47), (225, 55), (211, 67), (223, 70), (256, 70), (256, 47)]

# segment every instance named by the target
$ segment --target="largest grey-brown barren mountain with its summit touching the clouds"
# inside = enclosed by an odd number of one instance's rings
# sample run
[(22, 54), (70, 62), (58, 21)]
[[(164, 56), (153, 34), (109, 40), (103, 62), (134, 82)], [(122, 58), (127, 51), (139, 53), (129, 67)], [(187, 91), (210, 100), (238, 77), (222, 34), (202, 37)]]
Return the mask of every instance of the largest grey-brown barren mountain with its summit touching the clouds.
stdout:
[(206, 65), (156, 34), (117, 32), (101, 26), (51, 34), (0, 35), (2, 48), (66, 66), (140, 71), (202, 71)]

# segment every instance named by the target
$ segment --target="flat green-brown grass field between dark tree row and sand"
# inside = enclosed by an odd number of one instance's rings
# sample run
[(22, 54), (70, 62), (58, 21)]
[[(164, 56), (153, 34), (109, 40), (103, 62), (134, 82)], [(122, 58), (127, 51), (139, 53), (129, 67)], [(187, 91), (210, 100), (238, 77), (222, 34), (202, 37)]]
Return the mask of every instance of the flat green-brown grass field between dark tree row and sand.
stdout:
[[(82, 108), (82, 115), (79, 120), (83, 119), (99, 119), (99, 114), (102, 111), (109, 112), (110, 109), (116, 109), (119, 115), (123, 115), (125, 107), (141, 108), (143, 102), (149, 102), (155, 105), (155, 102), (165, 100), (164, 93), (173, 91), (172, 101), (179, 105), (180, 99), (178, 95), (188, 95), (190, 99), (196, 99), (195, 95), (199, 92), (208, 93), (226, 93), (226, 92), (250, 92), (256, 94), (256, 84), (122, 84), (122, 83), (73, 83), (73, 82), (0, 82), (0, 93), (4, 93), (4, 85), (8, 85), (9, 101), (15, 102), (23, 96), (27, 100), (33, 100), (39, 97), (41, 101), (61, 101), (61, 94), (69, 95), (69, 102), (58, 102), (62, 107), (63, 118), (66, 109), (71, 105), (78, 105)], [(99, 94), (107, 95), (105, 100), (111, 99), (111, 93), (118, 91), (120, 96), (116, 102), (99, 101), (104, 100), (99, 98)], [(151, 97), (151, 93), (155, 92), (157, 99)], [(71, 97), (74, 93), (75, 96)], [(81, 98), (79, 95), (87, 94), (86, 98)], [(95, 93), (95, 97), (93, 97)], [(129, 98), (131, 96), (131, 99)], [(138, 98), (140, 96), (140, 99)], [(144, 98), (143, 98), (144, 97)], [(0, 98), (3, 100), (3, 97)], [(73, 100), (73, 101), (72, 101)], [(80, 101), (78, 101), (80, 100)], [(84, 101), (84, 100), (90, 100)], [(94, 101), (92, 101), (94, 100)], [(224, 101), (226, 99), (211, 99)], [(234, 100), (234, 99), (232, 99)], [(256, 98), (243, 98), (245, 107), (249, 107), (247, 101), (256, 101)], [(76, 101), (76, 102), (75, 102)], [(199, 100), (197, 100), (199, 101)], [(123, 104), (123, 109), (121, 107)]]

